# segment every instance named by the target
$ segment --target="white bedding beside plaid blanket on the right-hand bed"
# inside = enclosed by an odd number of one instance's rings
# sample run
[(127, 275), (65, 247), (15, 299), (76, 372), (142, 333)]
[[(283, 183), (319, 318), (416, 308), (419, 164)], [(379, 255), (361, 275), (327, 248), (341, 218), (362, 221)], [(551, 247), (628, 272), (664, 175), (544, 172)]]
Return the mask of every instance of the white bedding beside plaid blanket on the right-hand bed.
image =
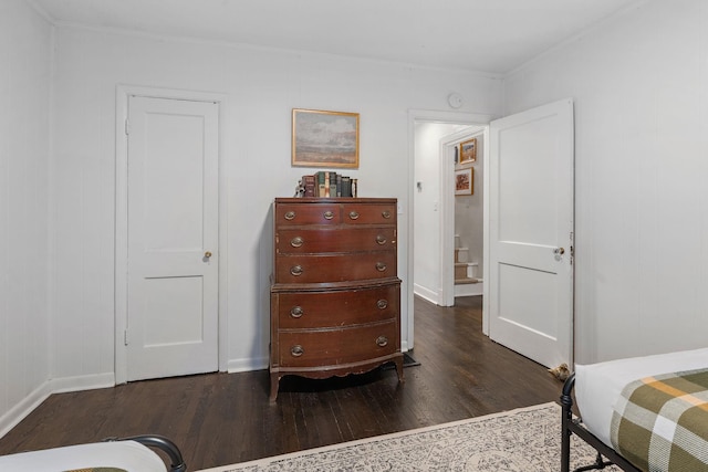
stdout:
[(705, 367), (708, 367), (708, 348), (575, 365), (575, 400), (583, 423), (612, 447), (612, 411), (625, 385), (653, 375)]

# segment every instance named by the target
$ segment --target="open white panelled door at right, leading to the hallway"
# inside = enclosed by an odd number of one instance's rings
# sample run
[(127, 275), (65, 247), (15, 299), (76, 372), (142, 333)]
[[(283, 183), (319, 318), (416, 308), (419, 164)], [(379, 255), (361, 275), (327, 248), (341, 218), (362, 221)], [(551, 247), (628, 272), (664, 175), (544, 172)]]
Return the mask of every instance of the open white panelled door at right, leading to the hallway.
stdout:
[(489, 336), (572, 365), (573, 102), (491, 122)]

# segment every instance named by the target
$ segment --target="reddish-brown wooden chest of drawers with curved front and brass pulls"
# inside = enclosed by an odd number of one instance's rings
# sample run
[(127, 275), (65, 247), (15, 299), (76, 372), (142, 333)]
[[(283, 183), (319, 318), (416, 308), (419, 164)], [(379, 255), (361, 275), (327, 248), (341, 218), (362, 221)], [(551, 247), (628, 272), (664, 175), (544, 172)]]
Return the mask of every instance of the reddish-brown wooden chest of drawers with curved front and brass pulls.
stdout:
[(279, 198), (273, 219), (271, 400), (285, 375), (403, 380), (396, 200)]

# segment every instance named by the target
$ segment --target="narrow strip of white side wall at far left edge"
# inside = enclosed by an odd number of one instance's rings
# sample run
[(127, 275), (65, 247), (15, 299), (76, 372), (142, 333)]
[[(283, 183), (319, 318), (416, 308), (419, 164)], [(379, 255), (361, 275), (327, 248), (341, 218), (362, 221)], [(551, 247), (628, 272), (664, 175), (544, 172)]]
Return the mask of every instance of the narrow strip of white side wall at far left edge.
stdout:
[(0, 2), (0, 436), (50, 377), (51, 45), (24, 0)]

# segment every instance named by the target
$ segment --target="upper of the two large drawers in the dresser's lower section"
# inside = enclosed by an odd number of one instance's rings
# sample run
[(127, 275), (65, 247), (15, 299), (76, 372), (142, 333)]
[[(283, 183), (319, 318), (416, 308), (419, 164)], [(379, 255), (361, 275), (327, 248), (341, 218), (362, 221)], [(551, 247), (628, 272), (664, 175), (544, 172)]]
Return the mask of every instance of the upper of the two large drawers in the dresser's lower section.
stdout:
[(280, 329), (336, 327), (367, 324), (398, 316), (399, 283), (333, 292), (278, 294)]

